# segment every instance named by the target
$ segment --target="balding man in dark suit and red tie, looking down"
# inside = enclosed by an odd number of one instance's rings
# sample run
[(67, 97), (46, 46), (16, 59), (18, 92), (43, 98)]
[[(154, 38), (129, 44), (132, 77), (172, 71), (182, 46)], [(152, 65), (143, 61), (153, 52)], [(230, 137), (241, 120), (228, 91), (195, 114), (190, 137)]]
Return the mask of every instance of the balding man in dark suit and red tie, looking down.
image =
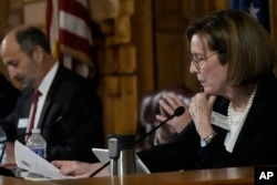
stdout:
[[(37, 28), (11, 30), (2, 40), (0, 54), (10, 78), (23, 89), (16, 110), (1, 122), (8, 141), (25, 143), (38, 127), (48, 144), (47, 160), (95, 162), (91, 148), (103, 147), (104, 137), (101, 102), (93, 85), (53, 59), (47, 37)], [(34, 90), (40, 92), (37, 111)]]

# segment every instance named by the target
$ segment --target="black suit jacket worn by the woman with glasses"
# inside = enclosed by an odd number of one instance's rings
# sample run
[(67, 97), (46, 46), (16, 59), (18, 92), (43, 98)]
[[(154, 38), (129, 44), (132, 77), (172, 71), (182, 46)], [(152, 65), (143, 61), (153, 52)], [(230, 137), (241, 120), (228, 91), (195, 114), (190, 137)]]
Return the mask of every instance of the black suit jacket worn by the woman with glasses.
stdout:
[[(214, 111), (227, 113), (228, 101), (218, 97)], [(259, 82), (237, 142), (229, 153), (224, 140), (227, 131), (214, 126), (215, 140), (199, 146), (199, 136), (192, 122), (172, 143), (138, 153), (152, 172), (277, 164), (277, 80), (273, 73)]]

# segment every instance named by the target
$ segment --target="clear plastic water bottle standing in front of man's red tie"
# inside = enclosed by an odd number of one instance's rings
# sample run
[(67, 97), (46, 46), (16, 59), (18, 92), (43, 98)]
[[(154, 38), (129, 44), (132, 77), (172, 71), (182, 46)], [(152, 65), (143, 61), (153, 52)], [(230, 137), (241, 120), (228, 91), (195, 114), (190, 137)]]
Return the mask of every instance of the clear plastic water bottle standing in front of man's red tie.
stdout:
[(40, 134), (39, 129), (32, 130), (32, 135), (27, 141), (25, 146), (39, 156), (47, 158), (47, 142)]

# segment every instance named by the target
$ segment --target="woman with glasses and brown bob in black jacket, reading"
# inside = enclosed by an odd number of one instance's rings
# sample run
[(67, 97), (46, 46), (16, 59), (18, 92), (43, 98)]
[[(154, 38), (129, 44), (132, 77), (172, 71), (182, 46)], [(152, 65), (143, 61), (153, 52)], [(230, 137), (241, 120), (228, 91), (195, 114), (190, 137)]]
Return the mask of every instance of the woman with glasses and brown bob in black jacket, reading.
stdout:
[[(276, 55), (267, 31), (246, 12), (224, 10), (189, 25), (187, 39), (189, 71), (204, 88), (189, 103), (193, 121), (174, 142), (137, 155), (151, 172), (277, 164)], [(178, 105), (167, 102), (172, 114)], [(227, 130), (211, 124), (212, 112), (227, 116)], [(54, 162), (63, 172), (70, 163)]]

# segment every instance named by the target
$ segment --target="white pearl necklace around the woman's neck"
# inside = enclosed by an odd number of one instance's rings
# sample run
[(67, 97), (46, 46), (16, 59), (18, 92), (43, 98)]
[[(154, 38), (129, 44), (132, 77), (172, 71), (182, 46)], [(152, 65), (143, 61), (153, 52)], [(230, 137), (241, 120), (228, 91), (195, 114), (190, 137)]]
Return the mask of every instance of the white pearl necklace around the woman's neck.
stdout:
[(252, 92), (252, 95), (248, 100), (248, 103), (247, 103), (247, 106), (245, 107), (244, 112), (243, 113), (238, 113), (235, 111), (232, 102), (229, 103), (229, 106), (228, 106), (228, 125), (229, 125), (229, 129), (232, 131), (232, 129), (234, 127), (235, 124), (239, 124), (240, 123), (240, 120), (242, 117), (244, 117), (246, 114), (248, 114), (248, 111), (253, 104), (253, 100), (256, 95), (256, 92), (257, 92), (257, 89), (258, 89), (258, 85), (256, 84), (253, 92)]

